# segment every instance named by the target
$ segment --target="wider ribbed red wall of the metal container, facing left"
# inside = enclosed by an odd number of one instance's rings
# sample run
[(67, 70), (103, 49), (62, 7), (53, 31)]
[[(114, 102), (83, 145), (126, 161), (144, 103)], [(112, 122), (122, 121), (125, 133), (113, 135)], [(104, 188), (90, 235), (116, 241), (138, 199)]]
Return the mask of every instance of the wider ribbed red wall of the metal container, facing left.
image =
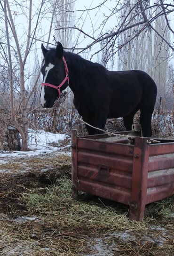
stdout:
[(78, 138), (78, 189), (128, 204), (133, 146)]

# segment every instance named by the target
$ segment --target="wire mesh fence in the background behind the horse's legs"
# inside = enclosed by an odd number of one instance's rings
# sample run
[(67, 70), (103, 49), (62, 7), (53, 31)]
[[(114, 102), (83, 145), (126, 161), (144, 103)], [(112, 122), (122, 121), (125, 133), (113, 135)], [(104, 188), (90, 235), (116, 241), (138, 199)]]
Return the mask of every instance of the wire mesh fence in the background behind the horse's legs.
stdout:
[[(72, 114), (71, 114), (72, 113)], [(140, 112), (134, 117), (134, 123), (139, 123)], [(59, 132), (71, 135), (72, 129), (77, 129), (79, 135), (87, 135), (86, 126), (74, 107), (68, 112), (63, 109), (58, 115), (57, 127), (54, 127), (54, 114), (51, 111), (38, 111), (29, 116), (29, 126), (33, 129), (44, 129), (50, 132)], [(174, 138), (174, 111), (152, 116), (152, 136), (163, 138)], [(122, 118), (108, 119), (105, 130), (114, 133), (124, 131)]]

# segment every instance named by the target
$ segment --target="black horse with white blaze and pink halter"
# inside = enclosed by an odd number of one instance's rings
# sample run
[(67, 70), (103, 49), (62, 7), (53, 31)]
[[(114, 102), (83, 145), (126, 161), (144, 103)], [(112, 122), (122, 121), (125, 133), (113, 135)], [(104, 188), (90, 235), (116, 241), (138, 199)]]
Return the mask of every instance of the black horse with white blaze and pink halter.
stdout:
[[(157, 96), (152, 78), (139, 70), (108, 71), (101, 64), (87, 61), (77, 54), (56, 48), (47, 50), (41, 45), (44, 64), (40, 93), (42, 107), (51, 108), (57, 97), (69, 85), (74, 105), (88, 124), (103, 129), (107, 118), (123, 117), (131, 130), (134, 114), (140, 109), (142, 134), (151, 136), (151, 116)], [(89, 135), (101, 133), (87, 126)]]

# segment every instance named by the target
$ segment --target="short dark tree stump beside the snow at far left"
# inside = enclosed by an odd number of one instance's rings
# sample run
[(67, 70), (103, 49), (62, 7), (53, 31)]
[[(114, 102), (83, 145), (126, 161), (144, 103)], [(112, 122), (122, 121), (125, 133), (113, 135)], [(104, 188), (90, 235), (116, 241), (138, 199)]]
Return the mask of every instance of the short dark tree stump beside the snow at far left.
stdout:
[(6, 140), (8, 150), (21, 150), (19, 131), (12, 125), (7, 126)]

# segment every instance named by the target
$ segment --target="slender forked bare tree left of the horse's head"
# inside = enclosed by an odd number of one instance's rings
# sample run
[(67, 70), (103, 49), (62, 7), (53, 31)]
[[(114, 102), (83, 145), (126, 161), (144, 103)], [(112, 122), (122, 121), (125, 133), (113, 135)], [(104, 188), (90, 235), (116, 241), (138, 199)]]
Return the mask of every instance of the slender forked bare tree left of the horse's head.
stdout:
[[(40, 2), (38, 5), (38, 9), (35, 10), (35, 13), (32, 12), (33, 10), (33, 3), (32, 0), (24, 2), (22, 4), (13, 2), (9, 4), (8, 0), (4, 1), (4, 6), (2, 1), (0, 1), (0, 7), (3, 11), (5, 25), (6, 25), (6, 32), (7, 35), (7, 46), (8, 46), (8, 55), (6, 52), (3, 52), (3, 57), (8, 63), (8, 68), (10, 70), (10, 85), (11, 85), (11, 120), (15, 124), (16, 128), (19, 130), (21, 137), (22, 137), (22, 150), (26, 151), (27, 147), (27, 139), (28, 139), (28, 118), (27, 118), (27, 91), (26, 91), (26, 78), (29, 77), (27, 75), (27, 57), (32, 49), (32, 46), (35, 42), (34, 37), (39, 29), (40, 20), (42, 18), (42, 9), (44, 5), (44, 0)], [(7, 7), (7, 8), (6, 8)], [(24, 34), (21, 37), (21, 31), (17, 30), (16, 19), (17, 13), (20, 16), (23, 16), (26, 19), (27, 29), (25, 25), (23, 27)], [(35, 20), (32, 28), (32, 21)], [(11, 45), (14, 45), (12, 48)], [(15, 50), (14, 50), (15, 49)], [(13, 54), (13, 66), (11, 62), (11, 54)], [(8, 56), (8, 57), (7, 57)], [(15, 66), (18, 65), (18, 73), (15, 72)], [(12, 76), (13, 74), (13, 76)], [(14, 84), (15, 81), (18, 83), (18, 103), (15, 104), (13, 107), (13, 98), (16, 97), (14, 94)], [(22, 126), (20, 125), (19, 119), (17, 118), (17, 113), (21, 113), (22, 119)]]

